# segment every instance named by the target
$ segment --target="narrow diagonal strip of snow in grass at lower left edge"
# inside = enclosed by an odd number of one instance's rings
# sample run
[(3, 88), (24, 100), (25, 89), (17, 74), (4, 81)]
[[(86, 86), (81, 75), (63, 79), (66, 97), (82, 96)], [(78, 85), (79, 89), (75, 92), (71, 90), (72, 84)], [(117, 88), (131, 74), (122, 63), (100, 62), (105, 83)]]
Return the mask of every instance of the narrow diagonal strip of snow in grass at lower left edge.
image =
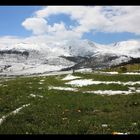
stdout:
[(3, 123), (3, 121), (4, 121), (7, 117), (9, 117), (9, 116), (12, 115), (12, 114), (14, 114), (14, 115), (17, 114), (21, 109), (23, 109), (24, 107), (27, 107), (27, 106), (29, 106), (29, 105), (30, 105), (30, 104), (25, 104), (25, 105), (23, 105), (23, 106), (17, 108), (16, 110), (10, 112), (9, 114), (7, 114), (7, 115), (5, 115), (5, 116), (2, 116), (2, 118), (0, 118), (0, 125)]

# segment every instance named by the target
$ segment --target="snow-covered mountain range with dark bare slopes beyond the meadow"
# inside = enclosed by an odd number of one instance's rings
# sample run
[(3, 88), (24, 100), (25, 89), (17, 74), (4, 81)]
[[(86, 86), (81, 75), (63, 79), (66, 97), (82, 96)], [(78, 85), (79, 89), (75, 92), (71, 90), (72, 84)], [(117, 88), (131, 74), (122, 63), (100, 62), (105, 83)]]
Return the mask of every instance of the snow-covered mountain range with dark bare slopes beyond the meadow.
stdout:
[(140, 42), (102, 45), (89, 40), (0, 44), (0, 74), (45, 73), (67, 68), (102, 68), (140, 57)]

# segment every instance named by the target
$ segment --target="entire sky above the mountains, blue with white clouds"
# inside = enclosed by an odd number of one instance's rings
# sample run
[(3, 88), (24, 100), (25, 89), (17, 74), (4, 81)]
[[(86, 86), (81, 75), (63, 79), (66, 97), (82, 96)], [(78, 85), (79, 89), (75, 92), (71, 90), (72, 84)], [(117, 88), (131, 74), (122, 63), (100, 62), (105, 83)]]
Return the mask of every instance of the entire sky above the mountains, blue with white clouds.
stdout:
[(140, 39), (140, 6), (0, 6), (0, 42)]

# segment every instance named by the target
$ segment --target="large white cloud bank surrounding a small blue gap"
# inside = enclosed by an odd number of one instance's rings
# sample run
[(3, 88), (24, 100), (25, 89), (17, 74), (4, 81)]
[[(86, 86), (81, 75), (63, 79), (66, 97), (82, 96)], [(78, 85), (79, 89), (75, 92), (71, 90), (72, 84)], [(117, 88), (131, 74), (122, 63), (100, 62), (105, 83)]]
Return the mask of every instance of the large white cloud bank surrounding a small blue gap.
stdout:
[[(61, 41), (80, 39), (86, 32), (130, 32), (140, 35), (140, 6), (47, 6), (25, 19), (22, 26), (33, 35), (24, 39), (2, 37), (0, 44), (27, 42)], [(75, 20), (76, 26), (59, 21), (50, 25), (51, 15), (66, 14)]]

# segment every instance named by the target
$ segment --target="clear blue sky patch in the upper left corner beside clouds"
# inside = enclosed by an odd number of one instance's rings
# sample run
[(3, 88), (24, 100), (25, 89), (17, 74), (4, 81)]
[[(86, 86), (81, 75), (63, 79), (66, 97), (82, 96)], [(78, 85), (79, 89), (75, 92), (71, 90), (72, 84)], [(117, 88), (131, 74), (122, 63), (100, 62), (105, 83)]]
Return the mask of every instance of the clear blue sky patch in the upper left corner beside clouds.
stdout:
[(31, 32), (25, 30), (21, 23), (40, 8), (39, 6), (0, 6), (0, 36), (31, 35)]

